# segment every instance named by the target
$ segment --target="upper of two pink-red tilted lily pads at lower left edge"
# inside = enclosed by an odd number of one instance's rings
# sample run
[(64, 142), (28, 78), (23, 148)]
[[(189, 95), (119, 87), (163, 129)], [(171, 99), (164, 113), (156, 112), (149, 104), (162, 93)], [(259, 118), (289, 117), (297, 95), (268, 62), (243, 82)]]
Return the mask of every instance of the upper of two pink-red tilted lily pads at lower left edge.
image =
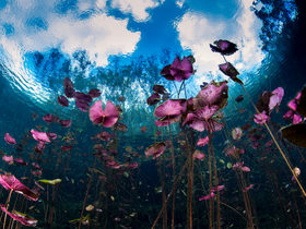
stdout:
[(27, 186), (22, 184), (13, 174), (0, 174), (0, 183), (5, 190), (13, 190), (33, 201), (38, 200), (38, 194), (35, 194)]

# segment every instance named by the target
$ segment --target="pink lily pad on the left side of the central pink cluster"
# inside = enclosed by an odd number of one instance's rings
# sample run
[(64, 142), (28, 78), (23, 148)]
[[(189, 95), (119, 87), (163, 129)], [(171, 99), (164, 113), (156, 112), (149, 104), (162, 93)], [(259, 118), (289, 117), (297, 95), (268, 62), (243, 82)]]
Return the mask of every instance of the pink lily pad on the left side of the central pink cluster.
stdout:
[(168, 99), (166, 103), (156, 107), (154, 116), (160, 118), (155, 125), (169, 125), (180, 120), (187, 109), (186, 99)]

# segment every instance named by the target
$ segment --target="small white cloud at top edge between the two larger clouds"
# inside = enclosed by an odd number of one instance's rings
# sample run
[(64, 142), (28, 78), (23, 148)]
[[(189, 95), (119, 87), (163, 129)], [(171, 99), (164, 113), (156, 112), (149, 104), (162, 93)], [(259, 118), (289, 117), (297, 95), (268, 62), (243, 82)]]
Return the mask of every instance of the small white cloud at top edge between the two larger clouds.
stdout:
[(150, 20), (146, 12), (149, 8), (156, 8), (160, 3), (153, 0), (114, 0), (111, 8), (117, 8), (123, 13), (131, 13), (136, 21), (144, 22)]

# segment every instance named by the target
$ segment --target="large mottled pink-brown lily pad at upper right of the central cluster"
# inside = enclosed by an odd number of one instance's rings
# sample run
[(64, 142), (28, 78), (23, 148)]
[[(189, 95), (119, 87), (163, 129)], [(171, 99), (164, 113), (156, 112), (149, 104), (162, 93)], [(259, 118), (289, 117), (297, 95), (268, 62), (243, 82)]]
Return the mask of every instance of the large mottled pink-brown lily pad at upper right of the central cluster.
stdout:
[(193, 109), (199, 110), (205, 106), (216, 105), (223, 108), (227, 104), (228, 86), (227, 81), (214, 82), (212, 81), (192, 99)]

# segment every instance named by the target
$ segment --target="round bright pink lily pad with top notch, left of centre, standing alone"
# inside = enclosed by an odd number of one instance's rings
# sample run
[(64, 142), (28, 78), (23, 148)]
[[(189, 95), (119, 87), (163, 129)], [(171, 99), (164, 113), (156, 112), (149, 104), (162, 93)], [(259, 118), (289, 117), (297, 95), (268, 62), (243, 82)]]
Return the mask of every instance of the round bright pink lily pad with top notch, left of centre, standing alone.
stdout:
[(105, 111), (102, 108), (102, 100), (95, 101), (90, 109), (90, 119), (95, 124), (110, 128), (117, 122), (118, 118), (119, 111), (110, 100), (107, 100)]

